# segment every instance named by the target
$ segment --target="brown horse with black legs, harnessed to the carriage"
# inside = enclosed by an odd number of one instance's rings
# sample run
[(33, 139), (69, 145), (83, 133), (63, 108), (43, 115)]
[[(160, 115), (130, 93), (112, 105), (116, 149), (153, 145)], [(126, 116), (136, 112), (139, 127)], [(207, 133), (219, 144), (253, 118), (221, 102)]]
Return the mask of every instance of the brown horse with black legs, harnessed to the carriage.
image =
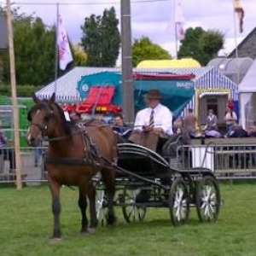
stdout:
[[(65, 113), (55, 103), (55, 94), (48, 101), (36, 103), (29, 111), (31, 122), (27, 131), (27, 142), (36, 147), (43, 136), (49, 138), (49, 148), (45, 155), (49, 189), (52, 195), (54, 215), (53, 239), (61, 238), (60, 228), (60, 188), (62, 184), (79, 187), (79, 208), (82, 215), (81, 234), (96, 230), (96, 189), (92, 177), (102, 173), (108, 196), (108, 224), (114, 224), (114, 163), (117, 158), (117, 142), (113, 131), (101, 121), (92, 119), (84, 122), (67, 120)], [(86, 217), (88, 196), (90, 201), (90, 228)]]

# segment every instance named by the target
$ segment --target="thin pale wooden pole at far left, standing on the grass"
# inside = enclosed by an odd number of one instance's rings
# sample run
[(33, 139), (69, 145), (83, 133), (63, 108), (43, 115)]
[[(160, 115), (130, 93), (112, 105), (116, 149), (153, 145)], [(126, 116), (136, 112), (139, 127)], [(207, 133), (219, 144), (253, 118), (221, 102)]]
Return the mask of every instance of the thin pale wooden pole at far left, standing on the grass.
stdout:
[(16, 96), (14, 36), (13, 36), (12, 15), (11, 15), (9, 0), (6, 0), (6, 7), (7, 7), (7, 32), (8, 32), (8, 41), (9, 41), (10, 82), (11, 82), (11, 94), (12, 94), (12, 105), (13, 105), (12, 108), (13, 108), (14, 130), (15, 130), (16, 188), (20, 190), (22, 188), (22, 183), (21, 183), (21, 174), (20, 174), (19, 116), (18, 116), (17, 96)]

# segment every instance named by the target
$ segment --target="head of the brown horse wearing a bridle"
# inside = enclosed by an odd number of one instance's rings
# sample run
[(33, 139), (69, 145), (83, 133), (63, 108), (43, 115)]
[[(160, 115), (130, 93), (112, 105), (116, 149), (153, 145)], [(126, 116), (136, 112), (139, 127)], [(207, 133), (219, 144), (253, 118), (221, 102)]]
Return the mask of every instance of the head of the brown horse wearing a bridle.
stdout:
[(43, 136), (49, 136), (54, 131), (54, 122), (50, 122), (55, 118), (55, 93), (49, 100), (41, 101), (34, 94), (32, 96), (35, 105), (27, 113), (27, 119), (31, 122), (27, 131), (26, 141), (36, 147), (42, 140)]

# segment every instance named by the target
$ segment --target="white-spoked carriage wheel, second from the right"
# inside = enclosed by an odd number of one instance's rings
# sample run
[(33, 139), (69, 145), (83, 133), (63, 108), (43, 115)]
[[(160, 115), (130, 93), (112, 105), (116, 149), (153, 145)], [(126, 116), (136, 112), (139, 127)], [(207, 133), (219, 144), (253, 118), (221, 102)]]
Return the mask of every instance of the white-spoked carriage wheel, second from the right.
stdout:
[(189, 192), (182, 177), (177, 177), (171, 186), (169, 209), (174, 226), (185, 224), (189, 219)]

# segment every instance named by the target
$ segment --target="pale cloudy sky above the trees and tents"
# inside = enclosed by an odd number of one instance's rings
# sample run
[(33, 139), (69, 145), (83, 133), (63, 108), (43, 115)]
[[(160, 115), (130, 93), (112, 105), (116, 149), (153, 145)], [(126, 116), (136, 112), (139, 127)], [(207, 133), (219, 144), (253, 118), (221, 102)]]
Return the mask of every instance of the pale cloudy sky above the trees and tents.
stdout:
[[(131, 40), (146, 36), (154, 44), (166, 49), (172, 56), (176, 55), (174, 26), (175, 0), (131, 0)], [(0, 3), (5, 3), (0, 0)], [(256, 26), (256, 0), (241, 0), (244, 9), (244, 32), (238, 32), (238, 20), (233, 11), (233, 0), (181, 0), (184, 15), (184, 28), (201, 26), (204, 30), (218, 30), (224, 34), (224, 49), (219, 55), (229, 54), (243, 38)], [(102, 15), (104, 9), (112, 6), (120, 17), (120, 0), (16, 0), (14, 6), (20, 11), (33, 13), (53, 25), (56, 20), (56, 6), (73, 44), (82, 37), (80, 26), (84, 18), (92, 14)], [(120, 26), (119, 26), (120, 27)], [(111, 38), (111, 35), (109, 36)]]

